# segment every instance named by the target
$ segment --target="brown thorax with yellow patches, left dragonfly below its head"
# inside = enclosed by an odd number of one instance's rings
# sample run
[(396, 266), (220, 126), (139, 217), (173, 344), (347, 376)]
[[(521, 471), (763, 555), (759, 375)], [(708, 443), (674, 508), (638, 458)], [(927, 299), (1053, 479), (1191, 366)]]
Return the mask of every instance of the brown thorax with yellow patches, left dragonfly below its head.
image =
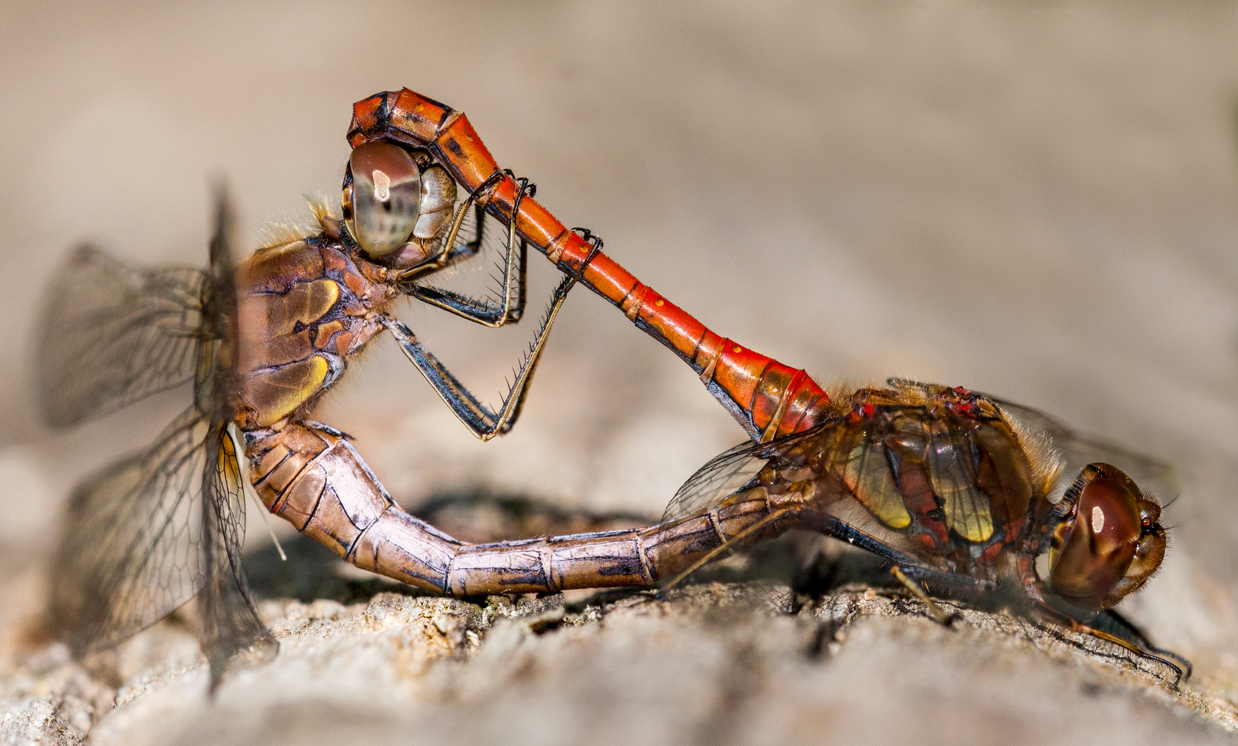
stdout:
[(248, 421), (275, 424), (318, 396), (345, 359), (379, 329), (384, 302), (353, 262), (329, 246), (293, 241), (261, 249), (238, 271), (238, 395)]

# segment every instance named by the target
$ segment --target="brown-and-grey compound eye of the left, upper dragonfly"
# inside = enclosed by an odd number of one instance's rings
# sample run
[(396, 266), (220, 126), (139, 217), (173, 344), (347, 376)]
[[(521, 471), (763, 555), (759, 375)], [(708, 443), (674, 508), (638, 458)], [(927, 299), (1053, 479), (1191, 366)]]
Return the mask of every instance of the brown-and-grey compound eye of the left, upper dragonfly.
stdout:
[(344, 176), (344, 225), (373, 257), (402, 246), (417, 225), (421, 174), (417, 162), (390, 142), (364, 142), (353, 148)]

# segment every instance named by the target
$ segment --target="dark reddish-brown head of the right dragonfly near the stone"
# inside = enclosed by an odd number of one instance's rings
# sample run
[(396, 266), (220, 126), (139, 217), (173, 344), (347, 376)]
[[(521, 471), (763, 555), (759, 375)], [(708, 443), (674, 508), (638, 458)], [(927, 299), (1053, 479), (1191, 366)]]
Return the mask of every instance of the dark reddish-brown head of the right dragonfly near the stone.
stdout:
[(1148, 581), (1165, 558), (1161, 507), (1109, 464), (1088, 464), (1066, 490), (1070, 512), (1054, 529), (1049, 585), (1082, 609), (1098, 611)]

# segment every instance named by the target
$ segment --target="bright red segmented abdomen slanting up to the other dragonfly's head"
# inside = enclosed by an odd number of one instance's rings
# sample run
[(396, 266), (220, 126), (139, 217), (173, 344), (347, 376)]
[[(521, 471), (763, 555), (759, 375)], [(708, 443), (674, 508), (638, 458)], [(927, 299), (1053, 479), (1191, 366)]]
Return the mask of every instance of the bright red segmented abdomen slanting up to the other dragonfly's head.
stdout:
[[(468, 118), (407, 88), (380, 93), (353, 106), (348, 142), (391, 140), (428, 150), (469, 191), (498, 169)], [(485, 209), (511, 219), (519, 187), (504, 177), (484, 199)], [(516, 231), (565, 272), (578, 272), (592, 245), (568, 230), (535, 199), (525, 197)], [(600, 251), (581, 281), (619, 307), (655, 339), (675, 350), (754, 439), (802, 432), (822, 419), (826, 392), (800, 369), (749, 350), (711, 332)]]

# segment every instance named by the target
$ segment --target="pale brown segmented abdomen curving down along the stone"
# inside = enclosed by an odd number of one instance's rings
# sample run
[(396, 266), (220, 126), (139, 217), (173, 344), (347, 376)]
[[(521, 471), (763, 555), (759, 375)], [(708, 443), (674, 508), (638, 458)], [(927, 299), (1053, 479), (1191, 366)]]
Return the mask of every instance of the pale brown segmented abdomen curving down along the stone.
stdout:
[[(764, 490), (670, 523), (465, 544), (404, 512), (344, 437), (317, 423), (246, 433), (262, 504), (345, 560), (452, 595), (650, 585), (766, 518)], [(745, 536), (747, 546), (785, 528)]]

